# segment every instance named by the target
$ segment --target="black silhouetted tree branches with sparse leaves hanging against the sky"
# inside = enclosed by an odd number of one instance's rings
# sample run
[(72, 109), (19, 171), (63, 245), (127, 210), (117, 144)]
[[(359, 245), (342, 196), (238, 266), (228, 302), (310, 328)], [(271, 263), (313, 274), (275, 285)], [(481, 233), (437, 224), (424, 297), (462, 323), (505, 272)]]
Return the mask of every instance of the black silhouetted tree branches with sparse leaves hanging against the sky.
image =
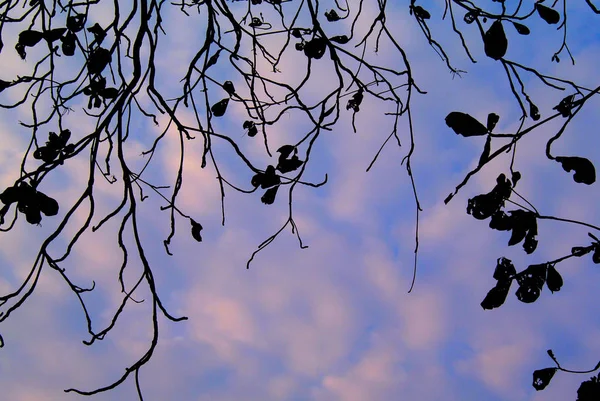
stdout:
[[(133, 374), (142, 399), (138, 374), (158, 344), (159, 315), (174, 322), (186, 319), (170, 314), (161, 302), (160, 283), (155, 281), (139, 232), (138, 208), (148, 197), (163, 202), (161, 210), (170, 216), (170, 232), (164, 239), (167, 254), (171, 255), (170, 245), (176, 233), (191, 234), (193, 239), (202, 242), (202, 222), (186, 214), (177, 203), (185, 184), (185, 150), (190, 141), (202, 143), (201, 167), (211, 165), (216, 171), (223, 225), (225, 195), (230, 191), (259, 196), (266, 205), (275, 202), (288, 205), (287, 220), (249, 255), (249, 268), (256, 255), (284, 232), (291, 231), (300, 248), (306, 246), (300, 236), (301, 227), (294, 220), (293, 199), (299, 187), (316, 188), (327, 183), (325, 172), (318, 182), (305, 179), (307, 167), (313, 166), (311, 155), (320, 146), (319, 139), (324, 132), (334, 131), (343, 119), (351, 119), (356, 131), (355, 121), (360, 118), (361, 107), (366, 103), (381, 105), (382, 118), (392, 119), (393, 129), (382, 139), (367, 171), (386, 146), (394, 146), (394, 143), (401, 146), (401, 137), (406, 136), (409, 151), (402, 163), (411, 182), (416, 218), (415, 270), (409, 292), (413, 289), (422, 209), (411, 168), (411, 157), (418, 151), (414, 141), (418, 127), (413, 124), (411, 105), (414, 96), (426, 94), (425, 86), (414, 78), (415, 67), (401, 38), (395, 37), (389, 29), (390, 6), (385, 0), (372, 4), (363, 0), (323, 3), (318, 0), (182, 0), (174, 3), (134, 0), (112, 4), (94, 0), (6, 0), (0, 3), (0, 57), (3, 63), (14, 54), (23, 60), (23, 68), (20, 68), (23, 72), (18, 76), (2, 73), (0, 105), (6, 110), (31, 111), (31, 119), (20, 122), (31, 136), (18, 177), (0, 195), (3, 204), (0, 230), (9, 232), (16, 224), (24, 224), (23, 217), (33, 225), (30, 230), (47, 221), (56, 224), (38, 250), (22, 284), (0, 297), (0, 322), (34, 292), (44, 266), (60, 275), (79, 300), (89, 332), (89, 339), (84, 341), (86, 345), (102, 340), (114, 328), (128, 303), (138, 302), (136, 290), (147, 286), (152, 294), (153, 337), (146, 353), (112, 383), (94, 390), (71, 388), (65, 391), (93, 395), (115, 388)], [(375, 6), (374, 15), (364, 12), (367, 3)], [(486, 138), (478, 165), (456, 185), (445, 203), (488, 163), (502, 154), (512, 154), (506, 173), (491, 183), (493, 188), (489, 193), (469, 200), (467, 213), (479, 220), (489, 219), (489, 227), (494, 230), (510, 231), (508, 245), (522, 244), (527, 254), (536, 250), (540, 220), (582, 225), (594, 232), (600, 230), (589, 222), (543, 215), (515, 190), (521, 178), (521, 173), (514, 169), (517, 144), (552, 121), (561, 121), (561, 127), (546, 144), (549, 162), (559, 163), (567, 173), (573, 172), (573, 180), (578, 184), (592, 185), (596, 181), (592, 161), (558, 155), (552, 145), (568, 131), (569, 124), (600, 91), (600, 86), (586, 88), (572, 80), (541, 73), (507, 56), (513, 40), (527, 40), (530, 27), (542, 23), (544, 29), (558, 29), (563, 33), (562, 43), (558, 44), (551, 61), (574, 62), (567, 41), (567, 3), (566, 0), (554, 3), (446, 0), (443, 15), (433, 16), (426, 2), (406, 2), (413, 23), (419, 26), (430, 51), (439, 55), (452, 77), (465, 71), (454, 66), (449, 53), (434, 35), (434, 21), (451, 24), (456, 34), (453, 40), (460, 43), (463, 54), (472, 63), (476, 57), (489, 57), (506, 75), (506, 84), (521, 110), (515, 132), (495, 132), (501, 116), (494, 111), (490, 111), (485, 123), (468, 114), (469, 110), (435, 118), (445, 118), (449, 132)], [(591, 0), (586, 0), (586, 4), (586, 12), (600, 13)], [(168, 73), (161, 70), (158, 61), (161, 40), (169, 35), (164, 28), (164, 18), (173, 10), (197, 19), (203, 29), (185, 73), (176, 77), (180, 80), (177, 87), (165, 86), (158, 78)], [(106, 15), (111, 17), (105, 18)], [(366, 33), (360, 34), (358, 26), (367, 26)], [(373, 57), (380, 48), (386, 49), (388, 57)], [(290, 62), (304, 65), (304, 75), (291, 81), (279, 79), (278, 74)], [(319, 93), (308, 90), (322, 74), (331, 77), (328, 85), (321, 85)], [(552, 110), (540, 110), (536, 99), (529, 95), (527, 85), (531, 79), (538, 80), (547, 91), (565, 96)], [(279, 139), (274, 140), (272, 132), (291, 115), (303, 121), (295, 134), (299, 136), (290, 135), (285, 138), (287, 142), (277, 144)], [(75, 116), (85, 119), (93, 129), (81, 130)], [(237, 121), (237, 125), (224, 123), (224, 116)], [(151, 139), (151, 145), (140, 156), (143, 162), (138, 165), (139, 157), (133, 160), (125, 149), (126, 141), (136, 130), (134, 122), (140, 119), (151, 121), (161, 129), (161, 134)], [(179, 143), (179, 153), (171, 156), (177, 160), (177, 174), (169, 186), (154, 182), (148, 173), (166, 137), (176, 137)], [(275, 161), (266, 165), (253, 162), (245, 150), (248, 140), (261, 144), (266, 156)], [(221, 166), (229, 159), (215, 151), (216, 147), (226, 148), (238, 165), (244, 166), (245, 172), (241, 173), (245, 174), (244, 181), (223, 173)], [(87, 183), (80, 188), (75, 202), (59, 205), (51, 193), (45, 192), (45, 179), (71, 168), (71, 162), (81, 157), (89, 159)], [(318, 169), (318, 166), (311, 168)], [(122, 193), (119, 205), (105, 215), (98, 215), (95, 209), (98, 180), (118, 186)], [(509, 206), (514, 209), (508, 210)], [(85, 215), (81, 224), (74, 223), (74, 216), (81, 213)], [(83, 233), (101, 230), (109, 221), (118, 221), (119, 226), (122, 265), (118, 279), (123, 295), (110, 324), (93, 330), (92, 314), (84, 294), (92, 291), (94, 284), (80, 286), (61, 268), (61, 263), (69, 257)], [(70, 232), (66, 227), (72, 224), (79, 225)], [(575, 242), (570, 254), (530, 265), (520, 272), (509, 259), (499, 258), (493, 273), (497, 283), (481, 306), (484, 309), (500, 307), (513, 282), (518, 285), (516, 296), (525, 303), (538, 300), (544, 285), (552, 292), (559, 291), (563, 279), (556, 266), (560, 262), (591, 254), (593, 263), (600, 263), (600, 240), (597, 233), (589, 235), (591, 243)], [(50, 251), (50, 246), (59, 242), (65, 244), (64, 251)], [(130, 253), (135, 253), (143, 265), (142, 274), (133, 282), (124, 278), (132, 257)], [(558, 370), (574, 372), (563, 368), (552, 351), (548, 353), (556, 366), (533, 373), (536, 390), (544, 389)], [(579, 373), (590, 374), (599, 369), (600, 362), (593, 369)], [(582, 382), (578, 400), (596, 399), (600, 394), (599, 380), (600, 374)]]

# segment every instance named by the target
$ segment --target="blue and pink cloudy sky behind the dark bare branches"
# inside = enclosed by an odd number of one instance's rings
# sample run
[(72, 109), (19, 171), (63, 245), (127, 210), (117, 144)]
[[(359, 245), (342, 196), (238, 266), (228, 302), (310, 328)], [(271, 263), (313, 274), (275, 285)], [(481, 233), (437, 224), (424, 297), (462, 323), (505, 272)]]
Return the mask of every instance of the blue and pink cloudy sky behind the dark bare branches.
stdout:
[[(365, 14), (373, 12), (372, 4)], [(432, 20), (439, 21), (443, 8), (423, 3)], [(164, 56), (157, 63), (165, 91), (176, 88), (201, 40), (201, 16), (184, 17), (177, 7), (165, 5), (161, 40)], [(95, 18), (103, 21), (107, 15)], [(533, 65), (549, 75), (566, 77), (590, 88), (598, 85), (600, 31), (597, 16), (585, 4), (569, 4), (568, 43), (576, 64), (567, 57), (551, 63), (560, 47), (561, 33), (543, 21), (531, 24), (532, 35), (520, 37), (506, 28), (507, 58)], [(391, 22), (393, 21), (393, 22)], [(600, 319), (597, 316), (596, 283), (600, 271), (590, 257), (557, 265), (565, 284), (551, 294), (547, 288), (533, 304), (509, 294), (499, 309), (483, 310), (480, 302), (495, 285), (492, 278), (497, 258), (513, 260), (517, 270), (529, 264), (556, 259), (572, 246), (588, 245), (589, 229), (543, 221), (539, 223), (538, 250), (532, 255), (520, 246), (507, 247), (509, 235), (492, 231), (487, 222), (466, 214), (467, 200), (492, 189), (500, 172), (507, 173), (510, 154), (499, 157), (471, 179), (449, 203), (443, 200), (479, 160), (484, 140), (463, 138), (444, 123), (451, 111), (469, 113), (485, 122), (495, 112), (500, 121), (495, 132), (515, 132), (520, 110), (510, 93), (498, 62), (487, 58), (473, 26), (462, 25), (477, 64), (469, 62), (449, 21), (432, 23), (432, 31), (458, 68), (453, 77), (427, 45), (408, 6), (391, 8), (388, 23), (406, 50), (420, 88), (412, 110), (415, 130), (413, 172), (423, 208), (420, 215), (419, 262), (416, 284), (409, 294), (413, 274), (415, 206), (410, 179), (402, 158), (408, 152), (406, 119), (400, 119), (402, 147), (390, 143), (377, 163), (365, 172), (389, 135), (390, 117), (382, 116), (381, 104), (366, 97), (352, 131), (351, 113), (342, 110), (339, 124), (324, 133), (307, 167), (307, 181), (321, 181), (320, 188), (298, 187), (294, 195), (294, 219), (306, 249), (288, 229), (253, 260), (257, 246), (287, 219), (283, 194), (273, 205), (260, 195), (228, 190), (226, 224), (221, 226), (221, 198), (216, 173), (210, 165), (200, 168), (202, 142), (186, 143), (184, 186), (178, 207), (201, 222), (203, 241), (189, 235), (181, 220), (168, 256), (162, 241), (169, 232), (169, 216), (155, 194), (140, 204), (142, 240), (153, 267), (157, 291), (172, 314), (189, 320), (179, 323), (159, 319), (159, 344), (150, 362), (140, 371), (145, 400), (531, 400), (576, 398), (579, 383), (588, 375), (558, 373), (548, 388), (536, 392), (532, 372), (553, 366), (546, 354), (551, 348), (570, 369), (589, 369), (600, 355)], [(327, 28), (329, 29), (329, 28)], [(333, 28), (332, 28), (333, 29)], [(361, 32), (367, 26), (359, 26)], [(13, 54), (10, 36), (2, 57), (0, 79), (8, 80), (29, 65)], [(199, 39), (198, 39), (199, 38)], [(12, 38), (11, 38), (12, 39)], [(12, 43), (12, 42), (10, 42)], [(383, 49), (368, 57), (395, 63)], [(33, 51), (31, 54), (35, 54)], [(32, 56), (33, 58), (33, 56)], [(281, 65), (282, 79), (295, 79), (305, 64), (299, 59)], [(300, 59), (302, 60), (302, 59)], [(319, 60), (323, 67), (329, 60)], [(399, 61), (398, 61), (399, 63)], [(317, 68), (317, 67), (315, 67)], [(319, 70), (320, 71), (320, 70)], [(219, 74), (228, 79), (228, 70)], [(318, 95), (328, 76), (311, 81)], [(234, 81), (236, 83), (236, 81)], [(528, 92), (542, 116), (550, 115), (564, 93), (549, 91), (527, 77)], [(11, 92), (2, 96), (13, 96)], [(218, 100), (218, 99), (217, 99)], [(597, 163), (600, 124), (590, 100), (554, 145), (561, 155), (587, 157)], [(82, 102), (69, 116), (74, 136), (93, 129), (81, 116)], [(30, 133), (17, 122), (28, 119), (29, 110), (17, 109), (0, 116), (0, 187), (18, 175), (18, 165)], [(185, 115), (191, 121), (191, 114)], [(243, 136), (243, 115), (232, 108), (217, 126), (239, 141), (252, 160), (268, 163), (259, 137)], [(159, 126), (139, 119), (125, 152), (132, 166), (141, 166), (139, 154), (148, 148), (167, 123)], [(272, 127), (272, 148), (290, 143), (302, 133), (305, 122), (290, 115)], [(517, 151), (516, 168), (522, 172), (519, 193), (545, 215), (580, 219), (592, 224), (599, 215), (595, 200), (598, 184), (573, 182), (560, 165), (546, 159), (545, 143), (559, 125), (549, 123), (526, 136)], [(236, 132), (239, 131), (239, 134)], [(78, 132), (79, 131), (79, 132)], [(173, 183), (178, 136), (169, 131), (156, 152), (148, 177), (156, 185)], [(492, 149), (499, 146), (492, 143)], [(224, 147), (215, 145), (222, 171), (233, 182), (249, 187)], [(219, 153), (221, 152), (221, 153)], [(271, 161), (272, 162), (272, 161)], [(72, 167), (71, 167), (72, 166)], [(61, 201), (61, 213), (45, 218), (41, 227), (20, 219), (0, 240), (0, 293), (18, 287), (29, 272), (39, 245), (64, 216), (87, 180), (86, 159), (74, 158), (48, 177), (44, 185)], [(119, 189), (97, 181), (97, 223), (120, 201)], [(85, 218), (75, 214), (67, 233), (74, 233)], [(108, 223), (95, 233), (86, 232), (74, 252), (61, 265), (80, 286), (96, 283), (86, 294), (94, 327), (110, 321), (120, 301), (117, 274), (121, 254), (116, 242), (118, 224)], [(130, 231), (126, 231), (130, 238)], [(132, 242), (128, 239), (129, 245)], [(64, 251), (66, 239), (50, 250)], [(126, 281), (140, 274), (132, 256)], [(148, 299), (147, 288), (135, 293)], [(148, 299), (149, 301), (149, 299)], [(128, 304), (116, 327), (103, 341), (85, 346), (89, 338), (77, 298), (51, 269), (42, 271), (34, 294), (9, 319), (0, 323), (5, 346), (0, 350), (0, 388), (7, 400), (77, 400), (66, 388), (92, 390), (110, 384), (146, 351), (151, 339), (151, 303)], [(130, 377), (116, 389), (93, 400), (136, 399)]]

